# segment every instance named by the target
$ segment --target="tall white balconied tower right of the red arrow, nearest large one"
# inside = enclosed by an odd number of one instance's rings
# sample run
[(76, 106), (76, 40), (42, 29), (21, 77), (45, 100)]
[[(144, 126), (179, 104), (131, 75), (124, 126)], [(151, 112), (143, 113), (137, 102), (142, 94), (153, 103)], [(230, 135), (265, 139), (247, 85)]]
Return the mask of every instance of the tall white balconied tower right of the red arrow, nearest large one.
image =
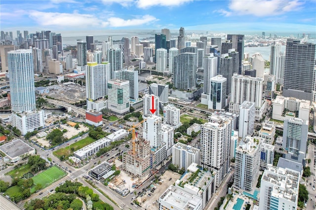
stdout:
[(211, 115), (210, 122), (201, 125), (201, 166), (217, 171), (218, 187), (229, 173), (232, 121)]

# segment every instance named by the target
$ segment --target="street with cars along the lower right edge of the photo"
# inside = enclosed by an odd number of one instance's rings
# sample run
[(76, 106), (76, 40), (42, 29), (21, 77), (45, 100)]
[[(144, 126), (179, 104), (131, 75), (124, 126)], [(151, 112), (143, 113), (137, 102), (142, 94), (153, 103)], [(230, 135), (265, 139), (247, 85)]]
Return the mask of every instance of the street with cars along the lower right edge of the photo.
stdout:
[[(311, 159), (311, 163), (308, 164), (308, 166), (311, 168), (311, 176), (306, 178), (306, 188), (309, 194), (309, 199), (307, 202), (307, 209), (312, 210), (313, 206), (315, 205), (316, 201), (316, 145), (314, 143), (310, 143), (308, 145), (308, 153), (307, 153), (307, 159)], [(313, 189), (314, 186), (314, 189)], [(311, 200), (312, 199), (312, 200)]]

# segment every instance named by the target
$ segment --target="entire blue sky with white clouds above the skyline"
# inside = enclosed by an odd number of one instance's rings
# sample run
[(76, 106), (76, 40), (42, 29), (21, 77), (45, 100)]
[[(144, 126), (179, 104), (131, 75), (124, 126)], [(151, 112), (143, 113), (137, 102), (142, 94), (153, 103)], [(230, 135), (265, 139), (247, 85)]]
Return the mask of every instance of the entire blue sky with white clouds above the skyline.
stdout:
[[(316, 0), (1, 0), (1, 31), (316, 33)], [(86, 34), (86, 33), (85, 33)], [(96, 34), (94, 34), (96, 35)]]

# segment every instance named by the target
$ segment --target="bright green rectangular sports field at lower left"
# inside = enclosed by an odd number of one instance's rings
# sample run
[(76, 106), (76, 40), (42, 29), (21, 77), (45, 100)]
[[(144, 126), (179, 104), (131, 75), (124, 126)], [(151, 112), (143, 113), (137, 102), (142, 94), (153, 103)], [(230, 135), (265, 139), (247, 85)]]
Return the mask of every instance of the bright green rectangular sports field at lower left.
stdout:
[[(34, 185), (41, 184), (41, 186), (45, 188), (54, 181), (62, 178), (64, 175), (66, 175), (65, 172), (61, 171), (58, 167), (53, 166), (42, 173), (35, 175), (32, 179), (34, 180)], [(35, 190), (35, 187), (31, 189), (31, 192), (33, 192), (33, 190)]]

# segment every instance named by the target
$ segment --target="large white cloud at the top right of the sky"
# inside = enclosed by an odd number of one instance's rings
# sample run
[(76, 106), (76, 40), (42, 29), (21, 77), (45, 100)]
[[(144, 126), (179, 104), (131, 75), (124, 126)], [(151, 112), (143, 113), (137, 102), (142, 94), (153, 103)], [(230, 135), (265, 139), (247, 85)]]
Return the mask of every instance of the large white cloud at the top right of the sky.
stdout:
[(300, 10), (303, 2), (298, 0), (231, 0), (229, 10), (215, 10), (224, 16), (254, 15), (275, 16), (285, 12)]

